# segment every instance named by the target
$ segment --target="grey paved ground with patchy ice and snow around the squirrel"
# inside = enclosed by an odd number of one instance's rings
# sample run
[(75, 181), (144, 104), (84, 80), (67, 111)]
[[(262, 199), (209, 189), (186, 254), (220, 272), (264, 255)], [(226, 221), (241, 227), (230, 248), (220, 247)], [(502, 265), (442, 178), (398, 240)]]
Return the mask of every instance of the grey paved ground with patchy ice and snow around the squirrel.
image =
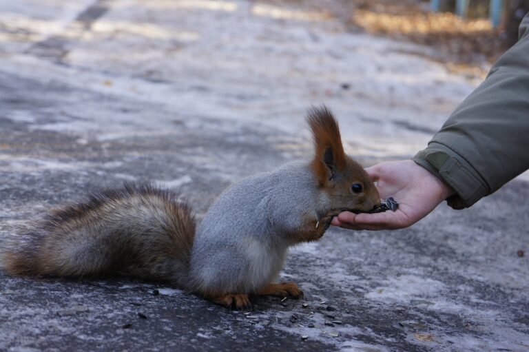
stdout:
[[(234, 180), (310, 156), (311, 104), (364, 165), (408, 158), (475, 87), (426, 48), (291, 3), (0, 1), (0, 244), (123, 180), (203, 214)], [(331, 229), (282, 273), (304, 300), (249, 314), (160, 284), (0, 271), (0, 351), (528, 351), (528, 196), (520, 178), (409, 229)]]

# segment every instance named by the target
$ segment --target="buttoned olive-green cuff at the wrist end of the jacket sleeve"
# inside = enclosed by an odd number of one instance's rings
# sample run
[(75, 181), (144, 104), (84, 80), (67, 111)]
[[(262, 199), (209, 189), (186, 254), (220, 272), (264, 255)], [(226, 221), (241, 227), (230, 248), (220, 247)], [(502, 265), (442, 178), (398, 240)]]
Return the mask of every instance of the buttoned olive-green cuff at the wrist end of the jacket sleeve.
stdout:
[(415, 154), (413, 161), (452, 187), (456, 194), (446, 201), (453, 209), (470, 207), (489, 194), (488, 186), (476, 170), (446, 145), (430, 143)]

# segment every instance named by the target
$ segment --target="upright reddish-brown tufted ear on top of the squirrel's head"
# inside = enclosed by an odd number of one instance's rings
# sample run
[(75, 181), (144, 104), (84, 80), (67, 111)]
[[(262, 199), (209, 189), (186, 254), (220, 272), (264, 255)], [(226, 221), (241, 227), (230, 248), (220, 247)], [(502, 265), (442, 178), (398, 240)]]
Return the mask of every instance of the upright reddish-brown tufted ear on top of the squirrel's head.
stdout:
[(346, 158), (340, 129), (325, 105), (311, 107), (307, 114), (307, 123), (311, 127), (315, 146), (312, 167), (320, 184), (324, 185), (345, 167)]

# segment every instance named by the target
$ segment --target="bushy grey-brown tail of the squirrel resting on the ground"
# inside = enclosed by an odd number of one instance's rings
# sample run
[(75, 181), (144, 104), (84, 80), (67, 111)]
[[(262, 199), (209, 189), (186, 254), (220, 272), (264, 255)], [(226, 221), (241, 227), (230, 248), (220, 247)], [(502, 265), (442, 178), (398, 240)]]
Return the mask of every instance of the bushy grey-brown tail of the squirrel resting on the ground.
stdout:
[(4, 260), (19, 275), (118, 272), (185, 289), (195, 227), (191, 208), (178, 194), (130, 183), (54, 211), (22, 234)]

